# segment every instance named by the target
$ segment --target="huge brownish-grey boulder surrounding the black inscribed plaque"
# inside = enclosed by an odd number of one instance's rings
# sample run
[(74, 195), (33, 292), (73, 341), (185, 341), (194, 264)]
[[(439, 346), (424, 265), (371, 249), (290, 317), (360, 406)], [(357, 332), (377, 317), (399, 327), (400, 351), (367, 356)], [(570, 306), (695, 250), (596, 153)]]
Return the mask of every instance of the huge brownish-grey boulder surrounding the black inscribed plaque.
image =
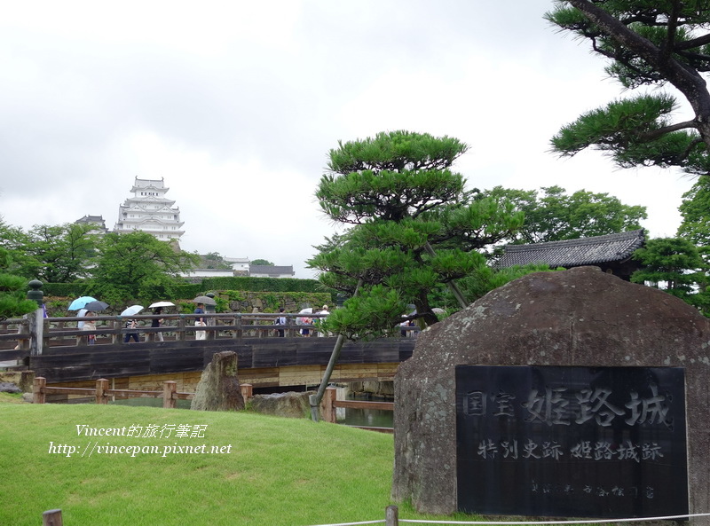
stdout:
[(706, 512), (709, 345), (708, 319), (690, 305), (596, 267), (512, 281), (423, 331), (399, 365), (392, 498), (430, 514), (458, 509), (456, 365), (675, 366), (685, 369), (690, 513)]

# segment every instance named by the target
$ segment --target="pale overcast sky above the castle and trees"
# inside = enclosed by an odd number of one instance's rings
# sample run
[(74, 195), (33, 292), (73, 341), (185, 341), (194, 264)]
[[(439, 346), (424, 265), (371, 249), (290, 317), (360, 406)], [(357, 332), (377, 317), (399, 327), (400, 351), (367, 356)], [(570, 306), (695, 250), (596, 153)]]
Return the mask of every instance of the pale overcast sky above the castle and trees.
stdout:
[[(110, 6), (109, 6), (110, 5)], [(692, 180), (561, 160), (549, 139), (627, 96), (551, 0), (15, 2), (0, 17), (0, 216), (103, 216), (164, 178), (201, 254), (304, 261), (335, 226), (313, 194), (339, 140), (411, 130), (470, 145), (481, 189), (608, 192), (673, 236)]]

